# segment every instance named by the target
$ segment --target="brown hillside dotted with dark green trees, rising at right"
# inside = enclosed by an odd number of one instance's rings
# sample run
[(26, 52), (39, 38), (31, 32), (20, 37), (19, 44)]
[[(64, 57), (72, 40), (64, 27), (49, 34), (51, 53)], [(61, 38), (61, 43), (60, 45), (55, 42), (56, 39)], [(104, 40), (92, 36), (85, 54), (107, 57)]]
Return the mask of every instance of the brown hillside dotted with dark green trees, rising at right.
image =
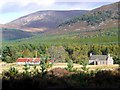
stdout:
[(111, 27), (118, 27), (120, 19), (118, 4), (120, 2), (105, 5), (91, 10), (85, 15), (65, 21), (58, 26), (57, 33), (104, 30)]

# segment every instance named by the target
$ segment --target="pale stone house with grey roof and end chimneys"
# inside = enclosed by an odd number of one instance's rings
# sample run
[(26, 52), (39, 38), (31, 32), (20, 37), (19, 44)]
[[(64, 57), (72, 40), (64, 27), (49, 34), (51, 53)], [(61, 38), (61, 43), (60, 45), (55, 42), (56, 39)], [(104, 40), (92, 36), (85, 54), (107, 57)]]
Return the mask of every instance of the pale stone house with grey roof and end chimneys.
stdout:
[(92, 65), (113, 65), (113, 59), (108, 55), (92, 55), (90, 53), (89, 64)]

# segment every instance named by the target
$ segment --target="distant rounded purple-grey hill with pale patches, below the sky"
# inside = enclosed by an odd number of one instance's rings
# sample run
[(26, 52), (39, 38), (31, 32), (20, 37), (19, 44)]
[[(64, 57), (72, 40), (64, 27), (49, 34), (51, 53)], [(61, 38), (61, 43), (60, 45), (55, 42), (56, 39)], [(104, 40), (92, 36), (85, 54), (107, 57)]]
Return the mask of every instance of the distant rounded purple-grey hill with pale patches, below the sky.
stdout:
[(23, 17), (20, 17), (7, 26), (12, 28), (19, 28), (29, 32), (39, 32), (45, 30), (53, 30), (56, 27), (73, 17), (85, 14), (86, 10), (73, 10), (73, 11), (38, 11)]

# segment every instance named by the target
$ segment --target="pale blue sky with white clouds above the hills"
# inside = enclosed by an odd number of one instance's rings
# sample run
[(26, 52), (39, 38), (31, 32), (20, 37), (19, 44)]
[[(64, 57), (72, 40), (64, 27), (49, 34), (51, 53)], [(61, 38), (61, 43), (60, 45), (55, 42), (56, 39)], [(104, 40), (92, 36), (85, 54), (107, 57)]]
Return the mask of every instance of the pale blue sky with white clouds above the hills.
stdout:
[(42, 10), (92, 10), (119, 0), (0, 0), (0, 24)]

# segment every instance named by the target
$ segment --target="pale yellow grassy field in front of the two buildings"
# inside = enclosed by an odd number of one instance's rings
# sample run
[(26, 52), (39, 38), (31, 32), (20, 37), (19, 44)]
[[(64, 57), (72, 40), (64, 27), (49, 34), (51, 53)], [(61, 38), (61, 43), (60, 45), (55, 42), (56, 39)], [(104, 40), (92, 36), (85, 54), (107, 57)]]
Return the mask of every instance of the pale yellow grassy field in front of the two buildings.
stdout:
[[(10, 67), (15, 67), (16, 69), (19, 70), (19, 72), (23, 72), (23, 65), (17, 65), (16, 63), (10, 63), (10, 64), (6, 64), (1, 62), (0, 63), (0, 73), (2, 73), (2, 71), (6, 71), (8, 70)], [(50, 69), (53, 68), (66, 68), (67, 67), (67, 63), (54, 63), (53, 66)], [(74, 64), (73, 68), (77, 68), (78, 70), (80, 70), (82, 67), (82, 65), (79, 64)], [(112, 69), (117, 69), (119, 67), (118, 64), (114, 64), (114, 65), (87, 65), (87, 67), (89, 68), (89, 70), (112, 70)], [(40, 66), (37, 66), (38, 70), (40, 70)], [(34, 66), (30, 66), (30, 71), (34, 70)]]

